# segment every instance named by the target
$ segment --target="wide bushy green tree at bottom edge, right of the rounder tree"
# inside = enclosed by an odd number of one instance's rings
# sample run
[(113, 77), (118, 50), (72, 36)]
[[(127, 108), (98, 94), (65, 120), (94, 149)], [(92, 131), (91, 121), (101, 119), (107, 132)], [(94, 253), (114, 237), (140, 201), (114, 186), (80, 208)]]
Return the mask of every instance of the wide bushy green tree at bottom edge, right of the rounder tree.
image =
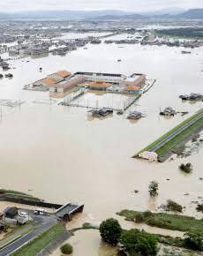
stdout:
[(131, 255), (156, 255), (157, 238), (144, 230), (127, 230), (121, 236), (120, 242)]

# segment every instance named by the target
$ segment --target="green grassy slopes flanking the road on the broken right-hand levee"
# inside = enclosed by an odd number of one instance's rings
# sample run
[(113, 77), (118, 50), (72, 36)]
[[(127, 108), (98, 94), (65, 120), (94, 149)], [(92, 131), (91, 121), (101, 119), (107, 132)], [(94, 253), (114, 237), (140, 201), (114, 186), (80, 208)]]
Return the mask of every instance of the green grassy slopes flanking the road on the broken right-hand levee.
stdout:
[[(176, 127), (174, 127), (172, 130), (170, 130), (169, 132), (165, 133), (161, 138), (156, 139), (152, 144), (150, 144), (149, 146), (145, 147), (144, 149), (142, 149), (141, 151), (139, 151), (138, 154), (135, 154), (133, 157), (138, 157), (140, 153), (144, 152), (144, 151), (149, 151), (152, 147), (154, 147), (156, 144), (158, 144), (159, 142), (161, 142), (163, 139), (166, 139), (167, 137), (169, 137), (170, 134), (172, 134), (173, 132), (176, 132), (179, 128), (181, 128), (182, 126), (184, 126), (184, 124), (187, 124), (189, 121), (192, 120), (192, 118), (196, 117), (197, 115), (199, 115), (199, 113), (203, 112), (203, 110), (199, 110), (196, 114), (194, 114), (192, 117), (189, 117), (187, 119), (184, 120), (184, 122), (182, 122), (181, 124), (178, 124)], [(196, 132), (200, 127), (203, 127), (203, 117), (201, 117), (198, 121), (196, 121), (194, 124), (190, 125), (188, 128), (186, 128), (183, 132), (180, 132), (179, 134), (177, 134), (176, 137), (174, 137), (173, 139), (170, 139), (168, 142), (165, 143), (164, 146), (158, 148), (155, 152), (160, 156), (160, 157), (164, 157), (165, 154), (169, 153), (169, 150), (171, 150), (174, 147), (177, 147), (177, 145), (179, 145), (180, 142), (183, 142), (185, 138), (189, 137), (192, 135), (193, 132)]]

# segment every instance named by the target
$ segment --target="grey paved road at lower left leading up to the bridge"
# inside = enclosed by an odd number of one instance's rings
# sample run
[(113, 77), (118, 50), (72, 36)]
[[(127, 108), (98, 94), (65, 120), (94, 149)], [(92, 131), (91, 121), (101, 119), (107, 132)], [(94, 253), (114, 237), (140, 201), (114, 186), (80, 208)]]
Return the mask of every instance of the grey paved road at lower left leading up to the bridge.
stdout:
[(25, 236), (20, 237), (10, 245), (4, 247), (2, 250), (0, 250), (0, 256), (11, 255), (11, 253), (19, 250), (21, 246), (26, 245), (26, 243), (30, 242), (32, 239), (34, 239), (34, 237), (41, 235), (41, 233), (49, 230), (54, 225), (56, 225), (56, 218), (53, 218), (52, 216), (44, 217), (44, 220), (39, 228), (27, 233)]

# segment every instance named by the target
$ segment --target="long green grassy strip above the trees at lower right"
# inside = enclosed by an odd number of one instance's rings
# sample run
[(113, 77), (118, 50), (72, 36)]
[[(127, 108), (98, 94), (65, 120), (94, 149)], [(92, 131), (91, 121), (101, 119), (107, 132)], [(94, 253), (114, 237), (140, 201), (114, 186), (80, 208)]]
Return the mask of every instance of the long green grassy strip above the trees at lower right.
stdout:
[(184, 215), (171, 215), (166, 213), (150, 213), (138, 212), (131, 210), (123, 210), (117, 215), (124, 216), (126, 221), (134, 222), (137, 215), (142, 215), (143, 223), (149, 226), (165, 230), (178, 230), (183, 232), (202, 232), (203, 221), (194, 217)]

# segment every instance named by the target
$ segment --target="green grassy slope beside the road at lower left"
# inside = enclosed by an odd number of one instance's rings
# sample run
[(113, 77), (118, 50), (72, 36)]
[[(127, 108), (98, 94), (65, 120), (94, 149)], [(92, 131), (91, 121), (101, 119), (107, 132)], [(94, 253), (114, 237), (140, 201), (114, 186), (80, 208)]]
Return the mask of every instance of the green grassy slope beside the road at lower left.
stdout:
[(45, 231), (38, 237), (35, 237), (28, 244), (20, 248), (17, 252), (11, 254), (11, 256), (30, 256), (40, 252), (46, 245), (56, 239), (59, 235), (64, 232), (64, 227), (57, 223), (54, 227)]

